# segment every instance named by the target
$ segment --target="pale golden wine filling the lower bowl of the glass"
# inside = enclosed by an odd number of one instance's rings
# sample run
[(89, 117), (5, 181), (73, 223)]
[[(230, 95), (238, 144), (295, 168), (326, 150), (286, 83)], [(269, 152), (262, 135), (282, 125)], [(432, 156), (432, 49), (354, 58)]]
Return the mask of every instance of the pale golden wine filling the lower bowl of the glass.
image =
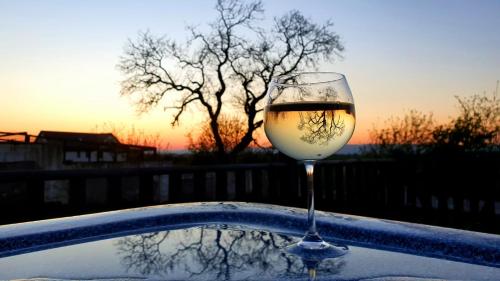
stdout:
[(266, 135), (271, 143), (297, 160), (319, 160), (341, 149), (356, 123), (354, 104), (294, 102), (265, 108)]

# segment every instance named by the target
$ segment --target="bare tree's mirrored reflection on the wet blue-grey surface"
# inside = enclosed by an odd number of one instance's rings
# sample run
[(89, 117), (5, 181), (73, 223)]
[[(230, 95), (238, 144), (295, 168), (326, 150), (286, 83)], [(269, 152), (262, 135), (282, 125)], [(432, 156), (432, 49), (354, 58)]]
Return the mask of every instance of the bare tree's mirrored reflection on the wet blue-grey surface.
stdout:
[[(265, 231), (205, 226), (119, 239), (115, 246), (127, 271), (190, 278), (233, 280), (255, 276), (303, 277), (310, 263), (283, 250), (293, 238)], [(340, 271), (342, 259), (325, 260), (319, 274)]]

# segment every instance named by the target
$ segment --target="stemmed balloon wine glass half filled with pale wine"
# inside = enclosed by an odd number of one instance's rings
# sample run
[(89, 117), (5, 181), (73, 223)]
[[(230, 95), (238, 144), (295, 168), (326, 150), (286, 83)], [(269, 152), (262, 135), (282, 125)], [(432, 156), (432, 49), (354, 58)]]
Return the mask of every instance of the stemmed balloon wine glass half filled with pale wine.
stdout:
[(341, 149), (354, 131), (354, 100), (344, 75), (303, 72), (274, 77), (267, 91), (264, 129), (273, 146), (304, 163), (308, 190), (308, 230), (288, 251), (306, 259), (346, 253), (325, 242), (314, 218), (314, 164)]

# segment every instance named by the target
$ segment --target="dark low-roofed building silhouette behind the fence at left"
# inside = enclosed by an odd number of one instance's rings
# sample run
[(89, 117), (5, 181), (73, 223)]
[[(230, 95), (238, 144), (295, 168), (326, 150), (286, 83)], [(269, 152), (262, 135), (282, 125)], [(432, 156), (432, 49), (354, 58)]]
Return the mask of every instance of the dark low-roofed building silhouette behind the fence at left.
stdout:
[(121, 143), (111, 133), (0, 133), (0, 169), (66, 169), (141, 162), (150, 146)]

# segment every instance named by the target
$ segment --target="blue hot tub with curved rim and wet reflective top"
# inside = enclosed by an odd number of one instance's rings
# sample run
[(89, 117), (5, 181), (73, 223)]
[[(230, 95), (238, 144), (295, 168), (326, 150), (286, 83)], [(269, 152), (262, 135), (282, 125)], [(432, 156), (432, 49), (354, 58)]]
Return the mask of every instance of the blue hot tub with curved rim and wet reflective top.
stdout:
[(0, 227), (1, 280), (500, 280), (500, 236), (317, 212), (348, 247), (284, 248), (303, 209), (237, 202), (155, 206)]

